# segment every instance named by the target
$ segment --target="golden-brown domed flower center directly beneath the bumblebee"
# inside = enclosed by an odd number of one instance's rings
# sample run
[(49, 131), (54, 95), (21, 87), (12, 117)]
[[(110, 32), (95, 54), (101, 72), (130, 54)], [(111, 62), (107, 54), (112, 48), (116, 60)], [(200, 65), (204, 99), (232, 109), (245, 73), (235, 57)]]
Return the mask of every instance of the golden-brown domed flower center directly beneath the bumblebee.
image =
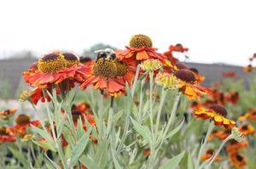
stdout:
[(103, 77), (115, 77), (117, 75), (117, 65), (113, 61), (98, 59), (93, 66), (93, 74)]

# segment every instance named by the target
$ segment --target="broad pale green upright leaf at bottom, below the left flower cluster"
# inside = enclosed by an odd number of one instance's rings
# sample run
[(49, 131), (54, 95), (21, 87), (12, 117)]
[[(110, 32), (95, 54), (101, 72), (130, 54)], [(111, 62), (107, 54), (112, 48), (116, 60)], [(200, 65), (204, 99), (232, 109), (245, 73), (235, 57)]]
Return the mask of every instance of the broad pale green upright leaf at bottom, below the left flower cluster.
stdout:
[(73, 150), (71, 152), (71, 156), (70, 156), (71, 160), (70, 160), (69, 166), (73, 166), (73, 165), (75, 165), (75, 163), (77, 163), (79, 161), (79, 157), (84, 152), (84, 149), (86, 148), (86, 145), (88, 144), (88, 142), (90, 140), (90, 138), (89, 138), (90, 130), (91, 129), (89, 129), (87, 132), (84, 133), (82, 138), (79, 139), (78, 143), (73, 148)]

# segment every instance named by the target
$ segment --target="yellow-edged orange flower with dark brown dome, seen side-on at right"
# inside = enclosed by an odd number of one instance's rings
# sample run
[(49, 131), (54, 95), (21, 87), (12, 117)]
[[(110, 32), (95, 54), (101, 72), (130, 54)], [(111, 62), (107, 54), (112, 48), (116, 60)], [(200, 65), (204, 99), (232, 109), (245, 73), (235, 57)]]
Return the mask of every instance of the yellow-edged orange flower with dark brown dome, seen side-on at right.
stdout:
[(236, 125), (236, 121), (226, 118), (227, 110), (219, 104), (212, 104), (210, 109), (202, 107), (196, 108), (194, 110), (194, 115), (204, 120), (210, 119), (215, 122), (215, 125), (223, 126), (225, 128), (232, 128)]

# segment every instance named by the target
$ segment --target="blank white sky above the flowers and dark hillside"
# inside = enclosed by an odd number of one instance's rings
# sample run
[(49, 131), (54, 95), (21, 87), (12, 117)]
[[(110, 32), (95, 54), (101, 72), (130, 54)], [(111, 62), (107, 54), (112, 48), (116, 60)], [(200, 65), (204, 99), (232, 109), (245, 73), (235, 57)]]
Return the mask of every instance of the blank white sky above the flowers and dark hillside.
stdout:
[(256, 53), (256, 1), (1, 0), (0, 57), (32, 50), (81, 54), (96, 42), (124, 48), (143, 33), (166, 51), (180, 42), (190, 61), (247, 65)]

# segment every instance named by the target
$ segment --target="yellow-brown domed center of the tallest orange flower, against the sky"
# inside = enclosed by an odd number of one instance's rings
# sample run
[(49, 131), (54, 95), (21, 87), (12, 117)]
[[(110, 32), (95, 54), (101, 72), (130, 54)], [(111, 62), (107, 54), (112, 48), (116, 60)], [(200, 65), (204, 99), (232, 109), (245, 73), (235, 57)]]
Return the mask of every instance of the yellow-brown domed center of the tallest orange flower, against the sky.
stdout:
[(150, 37), (139, 34), (131, 37), (130, 40), (130, 47), (131, 48), (151, 48), (152, 41)]

